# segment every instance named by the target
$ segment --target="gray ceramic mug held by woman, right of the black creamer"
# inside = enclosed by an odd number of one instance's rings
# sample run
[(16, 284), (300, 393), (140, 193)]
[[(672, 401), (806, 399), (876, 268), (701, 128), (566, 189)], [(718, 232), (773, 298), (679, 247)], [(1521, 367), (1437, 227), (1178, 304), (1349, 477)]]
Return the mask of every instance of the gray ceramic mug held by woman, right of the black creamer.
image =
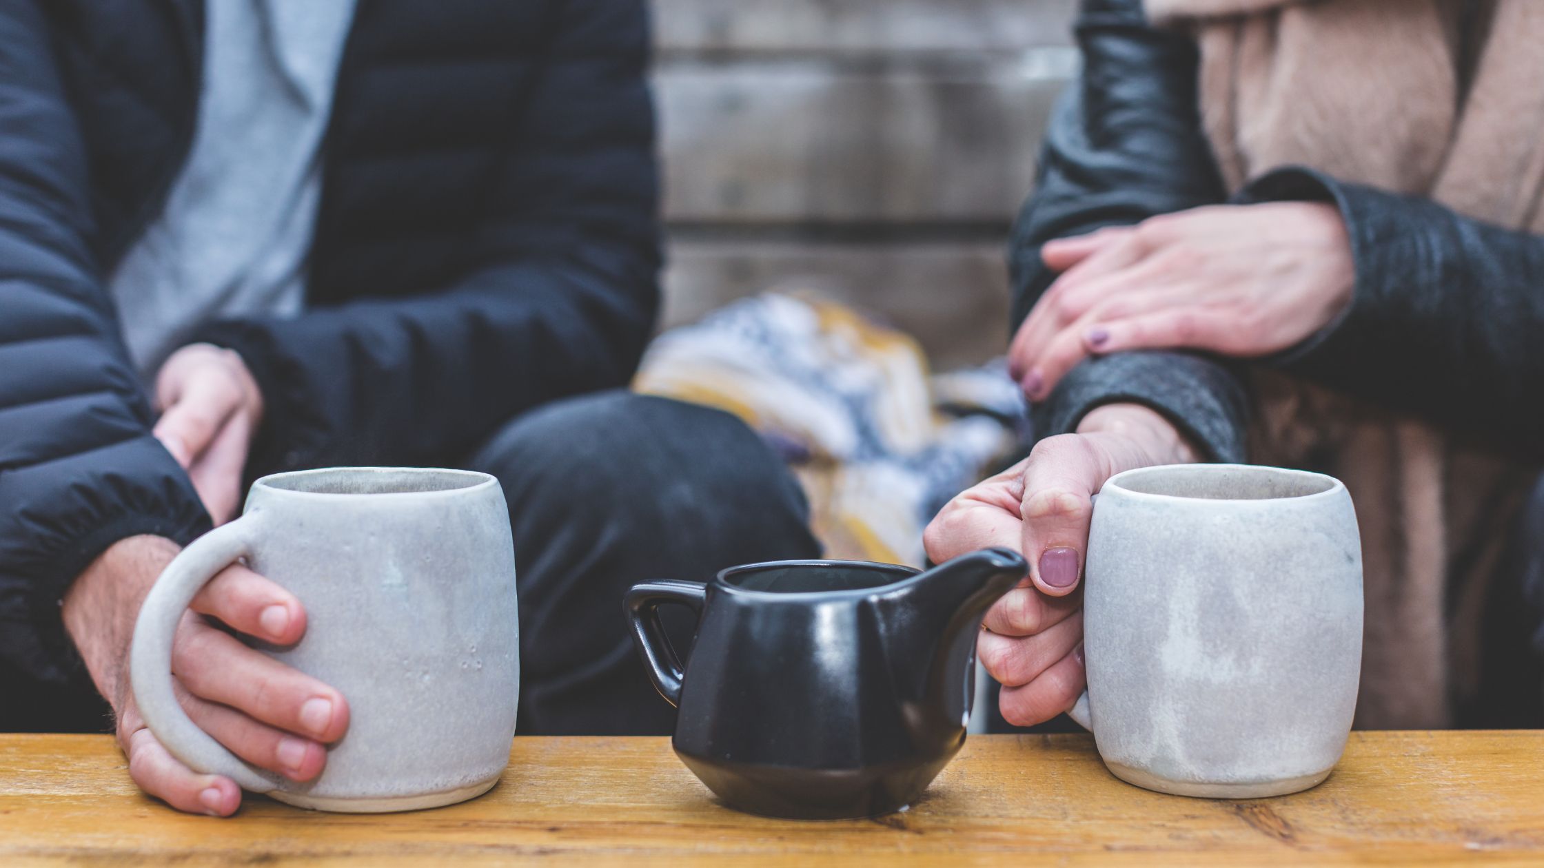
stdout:
[(1072, 717), (1121, 780), (1214, 798), (1325, 780), (1362, 669), (1345, 485), (1246, 465), (1110, 477), (1089, 531), (1084, 659)]

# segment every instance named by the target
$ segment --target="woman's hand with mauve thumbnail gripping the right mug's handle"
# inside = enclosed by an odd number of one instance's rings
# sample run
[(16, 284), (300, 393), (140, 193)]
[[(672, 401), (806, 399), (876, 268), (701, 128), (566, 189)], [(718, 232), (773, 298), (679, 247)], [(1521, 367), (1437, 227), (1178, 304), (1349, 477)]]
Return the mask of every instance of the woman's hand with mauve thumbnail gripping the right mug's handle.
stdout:
[(1041, 440), (1030, 457), (950, 500), (928, 530), (928, 558), (1005, 545), (1030, 576), (982, 622), (976, 652), (1002, 683), (999, 707), (1016, 726), (1070, 709), (1084, 689), (1082, 595), (1078, 590), (1093, 494), (1116, 473), (1187, 463), (1195, 449), (1164, 417), (1139, 405), (1106, 405), (1076, 434)]

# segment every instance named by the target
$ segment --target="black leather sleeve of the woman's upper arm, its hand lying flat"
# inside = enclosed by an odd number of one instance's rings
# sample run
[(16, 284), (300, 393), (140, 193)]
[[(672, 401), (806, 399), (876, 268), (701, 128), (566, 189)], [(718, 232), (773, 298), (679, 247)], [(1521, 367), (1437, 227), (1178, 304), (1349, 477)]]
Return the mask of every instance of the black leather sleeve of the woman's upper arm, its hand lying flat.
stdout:
[(1351, 239), (1351, 306), (1277, 366), (1544, 456), (1544, 238), (1306, 168), (1235, 201), (1331, 202)]

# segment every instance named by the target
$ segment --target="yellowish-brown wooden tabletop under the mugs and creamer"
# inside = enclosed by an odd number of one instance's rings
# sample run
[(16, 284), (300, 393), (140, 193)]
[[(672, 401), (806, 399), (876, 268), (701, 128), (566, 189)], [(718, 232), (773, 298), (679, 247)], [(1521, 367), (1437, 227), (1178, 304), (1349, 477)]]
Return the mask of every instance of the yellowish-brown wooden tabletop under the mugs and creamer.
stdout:
[(230, 820), (141, 795), (108, 737), (0, 735), (0, 865), (1544, 865), (1544, 732), (1359, 732), (1283, 798), (1158, 795), (1082, 735), (971, 737), (911, 811), (800, 823), (713, 802), (664, 738), (516, 738), (488, 795), (344, 815), (249, 797)]

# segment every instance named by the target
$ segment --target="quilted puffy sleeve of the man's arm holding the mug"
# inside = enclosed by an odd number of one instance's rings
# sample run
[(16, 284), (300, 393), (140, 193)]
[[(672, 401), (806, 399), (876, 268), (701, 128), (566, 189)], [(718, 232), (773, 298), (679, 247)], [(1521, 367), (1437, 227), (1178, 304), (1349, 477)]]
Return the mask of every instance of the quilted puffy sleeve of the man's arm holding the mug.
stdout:
[(150, 436), (93, 261), (80, 131), (37, 2), (0, 5), (0, 659), (79, 666), (59, 599), (111, 542), (187, 542), (208, 516)]

